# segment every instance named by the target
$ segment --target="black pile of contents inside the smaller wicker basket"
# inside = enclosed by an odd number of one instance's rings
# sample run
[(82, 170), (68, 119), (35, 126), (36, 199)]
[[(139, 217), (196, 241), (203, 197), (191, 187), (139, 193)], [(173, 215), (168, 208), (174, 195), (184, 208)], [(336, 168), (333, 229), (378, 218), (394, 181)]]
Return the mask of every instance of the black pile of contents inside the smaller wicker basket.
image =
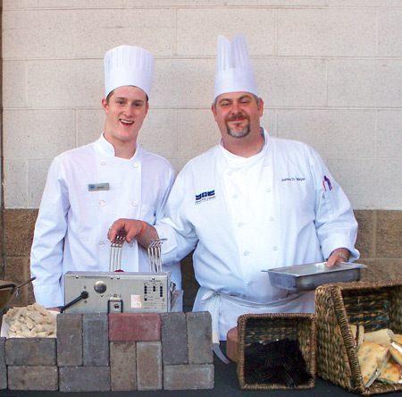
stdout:
[(289, 339), (248, 345), (244, 374), (247, 384), (285, 384), (288, 387), (306, 384), (312, 377), (298, 341)]

